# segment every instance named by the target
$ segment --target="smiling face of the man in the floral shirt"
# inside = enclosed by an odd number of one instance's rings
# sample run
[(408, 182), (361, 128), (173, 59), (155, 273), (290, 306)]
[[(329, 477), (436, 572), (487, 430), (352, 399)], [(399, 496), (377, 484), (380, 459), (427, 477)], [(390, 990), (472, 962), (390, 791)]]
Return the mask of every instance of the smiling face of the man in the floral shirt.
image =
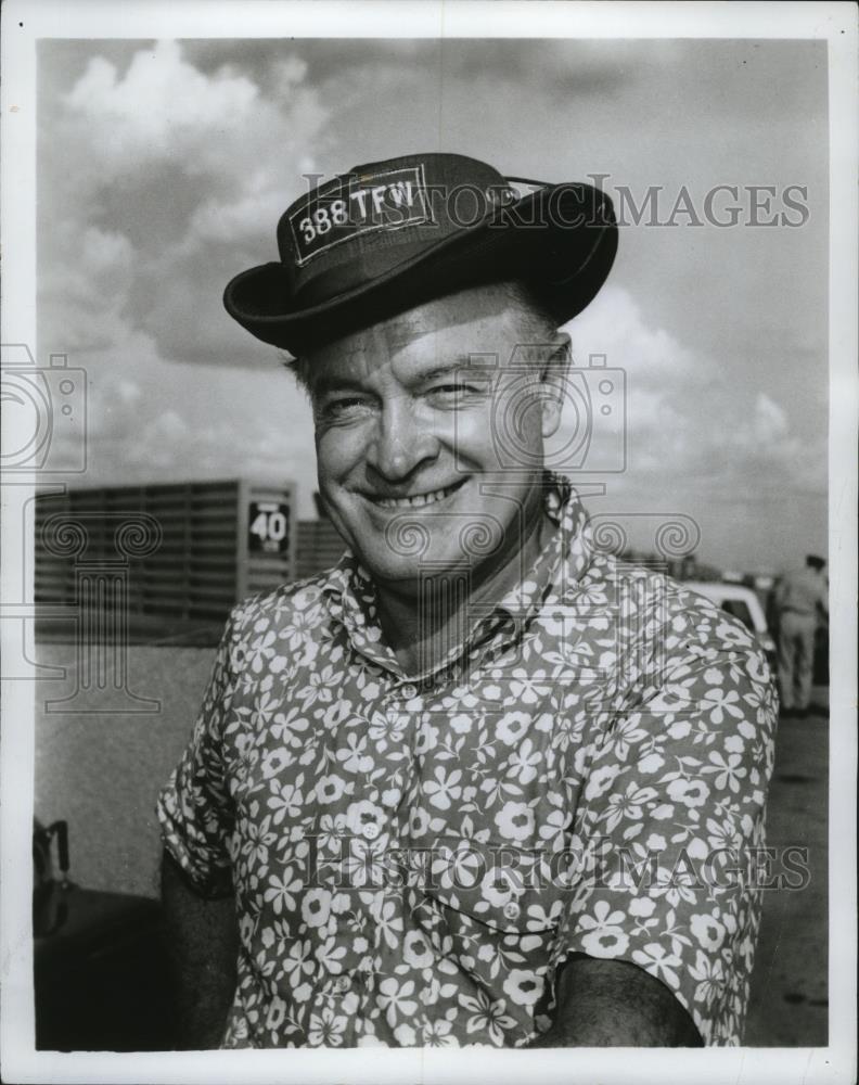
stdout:
[(563, 365), (541, 372), (516, 350), (529, 323), (503, 288), (480, 286), (308, 356), (320, 493), (380, 586), (413, 592), (454, 569), (476, 584), (540, 516)]

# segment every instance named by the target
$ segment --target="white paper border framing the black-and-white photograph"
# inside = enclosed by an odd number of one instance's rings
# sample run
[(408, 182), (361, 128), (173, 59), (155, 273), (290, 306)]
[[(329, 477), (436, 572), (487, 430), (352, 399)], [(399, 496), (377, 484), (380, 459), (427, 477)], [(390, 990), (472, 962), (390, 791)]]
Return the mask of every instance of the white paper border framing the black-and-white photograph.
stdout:
[[(36, 342), (36, 48), (40, 38), (794, 38), (829, 44), (831, 585), (830, 1045), (704, 1050), (465, 1049), (208, 1051), (119, 1055), (34, 1048), (28, 877), (34, 797), (29, 682), (2, 690), (2, 1075), (16, 1082), (452, 1083), (651, 1080), (787, 1085), (856, 1073), (856, 599), (857, 599), (857, 12), (851, 3), (553, 3), (367, 0), (106, 0), (3, 5), (2, 343)], [(35, 478), (3, 486), (2, 596), (21, 592), (33, 562), (15, 508)], [(29, 554), (31, 557), (31, 553)], [(31, 595), (29, 596), (31, 597)], [(34, 644), (27, 646), (34, 658)], [(634, 1060), (632, 1063), (631, 1060)]]

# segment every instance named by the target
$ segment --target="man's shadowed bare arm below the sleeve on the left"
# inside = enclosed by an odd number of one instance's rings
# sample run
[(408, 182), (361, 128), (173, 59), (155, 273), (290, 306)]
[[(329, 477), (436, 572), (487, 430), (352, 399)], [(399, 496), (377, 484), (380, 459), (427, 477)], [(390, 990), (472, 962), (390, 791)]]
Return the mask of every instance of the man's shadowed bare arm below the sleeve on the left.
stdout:
[(233, 898), (206, 899), (194, 892), (165, 851), (162, 905), (177, 1017), (176, 1046), (182, 1050), (218, 1047), (235, 991)]

